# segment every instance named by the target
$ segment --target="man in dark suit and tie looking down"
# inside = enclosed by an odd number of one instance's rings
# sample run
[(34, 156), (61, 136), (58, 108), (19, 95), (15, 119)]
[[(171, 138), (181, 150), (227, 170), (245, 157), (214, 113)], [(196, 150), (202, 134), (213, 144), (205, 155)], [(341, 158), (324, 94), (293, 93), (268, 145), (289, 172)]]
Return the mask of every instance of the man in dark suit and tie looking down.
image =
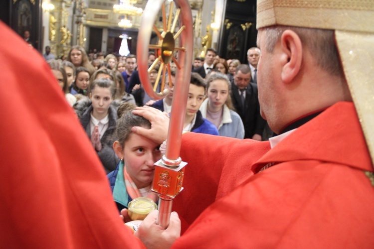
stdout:
[(236, 68), (234, 84), (232, 84), (232, 104), (244, 124), (244, 138), (258, 141), (262, 139), (262, 132), (266, 121), (261, 118), (258, 102), (257, 85), (250, 83), (251, 70), (248, 65), (241, 64)]

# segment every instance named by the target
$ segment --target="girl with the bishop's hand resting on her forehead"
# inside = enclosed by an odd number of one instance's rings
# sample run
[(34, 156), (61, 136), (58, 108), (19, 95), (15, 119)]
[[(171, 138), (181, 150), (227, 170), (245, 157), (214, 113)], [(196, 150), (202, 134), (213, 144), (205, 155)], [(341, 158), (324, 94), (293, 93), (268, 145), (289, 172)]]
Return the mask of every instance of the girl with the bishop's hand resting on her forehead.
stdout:
[(125, 111), (117, 121), (117, 140), (113, 143), (113, 148), (121, 160), (116, 169), (108, 174), (119, 212), (137, 197), (148, 197), (156, 203), (158, 200), (157, 194), (151, 192), (151, 189), (155, 175), (153, 164), (162, 156), (160, 144), (131, 131), (134, 126), (151, 128), (148, 120), (131, 111)]

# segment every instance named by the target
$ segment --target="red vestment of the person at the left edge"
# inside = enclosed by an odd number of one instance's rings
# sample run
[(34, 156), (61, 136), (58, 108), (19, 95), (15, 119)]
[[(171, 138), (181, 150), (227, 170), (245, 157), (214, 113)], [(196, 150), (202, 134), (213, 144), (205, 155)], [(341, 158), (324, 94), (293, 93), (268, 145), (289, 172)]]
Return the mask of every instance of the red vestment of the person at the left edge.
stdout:
[(143, 248), (49, 66), (0, 22), (0, 245)]

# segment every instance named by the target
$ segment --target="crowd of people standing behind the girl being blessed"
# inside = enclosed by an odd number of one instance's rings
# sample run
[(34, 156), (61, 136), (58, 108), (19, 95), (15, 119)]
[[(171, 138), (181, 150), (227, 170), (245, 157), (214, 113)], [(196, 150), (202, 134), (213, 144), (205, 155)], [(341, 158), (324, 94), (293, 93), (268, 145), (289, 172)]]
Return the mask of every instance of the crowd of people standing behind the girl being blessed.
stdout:
[[(73, 46), (64, 61), (55, 60), (50, 55), (50, 48), (46, 47), (44, 58), (107, 173), (112, 172), (120, 161), (112, 144), (116, 111), (122, 104), (152, 106), (171, 114), (175, 75), (178, 73), (175, 65), (171, 67), (171, 76), (165, 77), (166, 88), (171, 94), (156, 101), (145, 92), (140, 82), (137, 58), (133, 54), (87, 54), (83, 47)], [(241, 64), (235, 59), (227, 63), (213, 48), (208, 48), (205, 58), (195, 58), (191, 65), (184, 131), (239, 139), (268, 139), (269, 136), (264, 134), (266, 121), (260, 115), (254, 80), (259, 55), (259, 48), (254, 47), (248, 50), (249, 64)], [(156, 55), (150, 51), (148, 56), (151, 67)], [(155, 85), (159, 65), (152, 68), (149, 78)], [(172, 82), (169, 83), (169, 80)], [(157, 91), (160, 88), (161, 84), (158, 84)]]

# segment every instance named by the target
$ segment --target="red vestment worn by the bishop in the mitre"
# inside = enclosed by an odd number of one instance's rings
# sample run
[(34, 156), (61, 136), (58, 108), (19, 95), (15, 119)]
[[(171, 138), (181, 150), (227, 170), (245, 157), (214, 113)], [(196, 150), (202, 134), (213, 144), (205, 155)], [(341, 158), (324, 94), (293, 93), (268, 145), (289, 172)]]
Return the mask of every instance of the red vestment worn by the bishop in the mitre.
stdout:
[(173, 209), (193, 223), (175, 248), (374, 247), (374, 188), (364, 173), (373, 166), (352, 103), (328, 108), (270, 150), (191, 133), (182, 144), (185, 189)]

